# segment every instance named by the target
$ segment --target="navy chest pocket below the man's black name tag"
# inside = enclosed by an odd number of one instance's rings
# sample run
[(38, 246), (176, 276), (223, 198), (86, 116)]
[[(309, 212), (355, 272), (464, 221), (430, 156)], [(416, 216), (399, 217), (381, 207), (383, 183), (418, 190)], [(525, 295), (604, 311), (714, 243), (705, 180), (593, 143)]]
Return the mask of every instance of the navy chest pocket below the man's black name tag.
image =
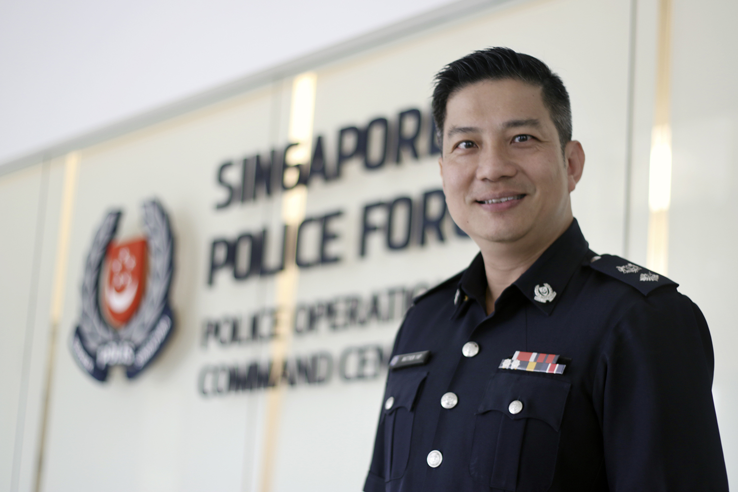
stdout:
[[(400, 370), (390, 373), (384, 395), (384, 477), (402, 477), (410, 456), (415, 400), (427, 372)], [(391, 405), (390, 405), (391, 403)]]

